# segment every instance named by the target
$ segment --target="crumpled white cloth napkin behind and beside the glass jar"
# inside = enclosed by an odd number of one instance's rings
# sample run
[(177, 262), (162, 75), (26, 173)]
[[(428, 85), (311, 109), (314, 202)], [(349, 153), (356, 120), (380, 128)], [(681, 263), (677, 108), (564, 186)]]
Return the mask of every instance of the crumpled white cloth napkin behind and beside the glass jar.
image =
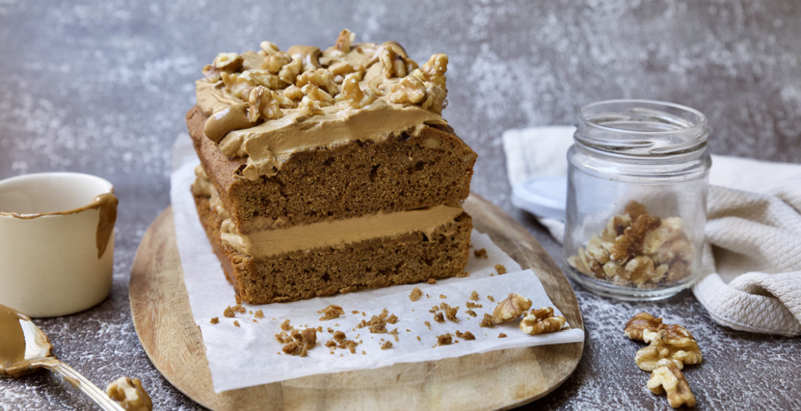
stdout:
[[(509, 183), (566, 175), (574, 130), (505, 131)], [(743, 331), (801, 335), (801, 164), (713, 155), (706, 219), (693, 292), (710, 316)], [(561, 221), (540, 222), (563, 240)]]

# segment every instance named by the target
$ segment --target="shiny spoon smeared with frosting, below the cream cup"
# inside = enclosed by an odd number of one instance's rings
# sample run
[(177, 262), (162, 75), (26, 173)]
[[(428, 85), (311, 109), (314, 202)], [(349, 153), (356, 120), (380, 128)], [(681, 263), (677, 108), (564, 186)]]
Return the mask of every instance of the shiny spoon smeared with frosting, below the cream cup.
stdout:
[(0, 304), (0, 377), (17, 378), (49, 369), (91, 397), (106, 411), (125, 411), (96, 385), (50, 354), (50, 338), (28, 316)]

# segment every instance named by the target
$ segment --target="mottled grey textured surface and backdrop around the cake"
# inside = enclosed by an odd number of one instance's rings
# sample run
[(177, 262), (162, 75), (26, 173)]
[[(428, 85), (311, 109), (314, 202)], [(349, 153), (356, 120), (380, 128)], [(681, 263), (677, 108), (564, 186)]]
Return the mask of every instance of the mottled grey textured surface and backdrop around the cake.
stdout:
[[(139, 377), (156, 409), (199, 409), (152, 367), (127, 280), (143, 232), (169, 203), (169, 147), (193, 80), (218, 51), (270, 39), (332, 44), (342, 27), (450, 56), (445, 118), (480, 155), (473, 191), (511, 212), (552, 256), (561, 248), (509, 203), (500, 145), (510, 127), (572, 123), (584, 103), (665, 99), (706, 113), (711, 151), (801, 159), (801, 6), (783, 1), (57, 2), (0, 0), (0, 178), (83, 171), (120, 199), (111, 298), (38, 320), (54, 353), (99, 385)], [(645, 387), (622, 324), (646, 310), (685, 324), (704, 353), (686, 377), (698, 409), (799, 409), (799, 339), (719, 327), (689, 292), (630, 304), (574, 285), (582, 362), (543, 409), (668, 409)], [(499, 381), (500, 383), (501, 381)], [(0, 380), (0, 409), (91, 409), (58, 377)]]

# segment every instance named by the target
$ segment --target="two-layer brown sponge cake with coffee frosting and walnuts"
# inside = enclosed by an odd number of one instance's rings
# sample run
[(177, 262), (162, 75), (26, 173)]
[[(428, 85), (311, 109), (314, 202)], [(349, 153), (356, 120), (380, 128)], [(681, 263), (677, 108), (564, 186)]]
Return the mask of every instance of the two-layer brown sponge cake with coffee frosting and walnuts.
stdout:
[(464, 272), (476, 154), (441, 117), (448, 57), (417, 66), (396, 42), (352, 39), (262, 42), (196, 82), (192, 193), (239, 301)]

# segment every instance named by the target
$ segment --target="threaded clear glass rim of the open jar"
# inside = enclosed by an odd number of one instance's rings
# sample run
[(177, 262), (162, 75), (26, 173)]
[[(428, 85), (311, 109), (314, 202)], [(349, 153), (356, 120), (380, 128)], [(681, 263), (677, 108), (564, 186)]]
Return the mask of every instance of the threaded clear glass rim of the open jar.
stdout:
[(672, 155), (706, 146), (701, 111), (649, 99), (613, 99), (578, 110), (574, 139), (598, 150), (627, 155)]

